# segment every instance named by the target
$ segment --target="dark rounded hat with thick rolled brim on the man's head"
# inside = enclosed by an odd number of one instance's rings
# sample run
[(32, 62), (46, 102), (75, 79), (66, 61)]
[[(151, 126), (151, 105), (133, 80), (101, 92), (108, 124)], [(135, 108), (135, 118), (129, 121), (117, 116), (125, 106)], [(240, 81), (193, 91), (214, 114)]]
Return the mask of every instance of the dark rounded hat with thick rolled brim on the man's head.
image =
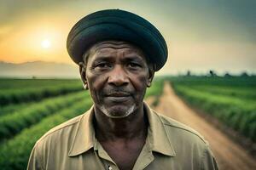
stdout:
[(68, 34), (67, 52), (79, 64), (85, 51), (106, 40), (131, 42), (142, 48), (155, 64), (155, 71), (166, 63), (168, 50), (160, 31), (137, 14), (119, 9), (97, 11), (79, 20)]

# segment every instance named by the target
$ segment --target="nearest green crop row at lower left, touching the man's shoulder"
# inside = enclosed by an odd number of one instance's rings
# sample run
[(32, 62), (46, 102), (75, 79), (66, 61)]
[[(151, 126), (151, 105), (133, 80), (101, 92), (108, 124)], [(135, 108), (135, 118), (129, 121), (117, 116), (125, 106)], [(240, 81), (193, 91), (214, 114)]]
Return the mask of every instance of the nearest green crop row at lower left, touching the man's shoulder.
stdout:
[(24, 129), (15, 138), (9, 139), (0, 145), (0, 167), (5, 170), (26, 169), (26, 164), (36, 141), (50, 128), (78, 116), (88, 110), (92, 102), (90, 99), (81, 99), (75, 105), (62, 111), (55, 111), (54, 115), (45, 117), (38, 124)]

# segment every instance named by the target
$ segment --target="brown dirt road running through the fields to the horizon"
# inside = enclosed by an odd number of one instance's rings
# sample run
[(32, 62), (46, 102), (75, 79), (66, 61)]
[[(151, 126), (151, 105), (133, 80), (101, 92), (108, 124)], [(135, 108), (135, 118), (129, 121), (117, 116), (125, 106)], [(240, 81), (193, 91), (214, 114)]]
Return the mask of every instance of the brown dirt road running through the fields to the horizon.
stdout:
[[(150, 100), (152, 99), (148, 99), (148, 103), (151, 102)], [(160, 114), (170, 116), (178, 122), (183, 122), (201, 133), (209, 142), (218, 161), (219, 169), (256, 169), (256, 161), (241, 146), (235, 144), (224, 133), (185, 105), (168, 83), (165, 83), (164, 93), (160, 97), (159, 105), (154, 109)]]

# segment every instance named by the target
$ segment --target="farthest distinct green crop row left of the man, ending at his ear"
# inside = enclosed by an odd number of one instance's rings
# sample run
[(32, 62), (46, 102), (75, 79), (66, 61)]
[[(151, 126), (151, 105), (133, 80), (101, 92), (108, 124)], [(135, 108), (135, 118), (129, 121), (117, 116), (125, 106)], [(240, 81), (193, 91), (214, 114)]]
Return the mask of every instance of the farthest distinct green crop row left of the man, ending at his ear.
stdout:
[(9, 104), (26, 103), (38, 101), (56, 95), (68, 94), (82, 90), (81, 84), (59, 84), (43, 88), (20, 88), (0, 91), (0, 106)]

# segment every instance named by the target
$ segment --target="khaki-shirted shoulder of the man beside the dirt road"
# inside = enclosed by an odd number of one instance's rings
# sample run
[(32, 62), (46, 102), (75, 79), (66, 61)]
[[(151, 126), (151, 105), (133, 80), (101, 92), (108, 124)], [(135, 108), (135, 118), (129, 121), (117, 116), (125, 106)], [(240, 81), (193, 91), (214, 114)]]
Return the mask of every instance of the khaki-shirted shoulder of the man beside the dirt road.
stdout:
[(166, 130), (166, 135), (176, 152), (177, 160), (193, 162), (195, 169), (218, 169), (212, 150), (204, 137), (195, 129), (170, 117), (154, 113)]

